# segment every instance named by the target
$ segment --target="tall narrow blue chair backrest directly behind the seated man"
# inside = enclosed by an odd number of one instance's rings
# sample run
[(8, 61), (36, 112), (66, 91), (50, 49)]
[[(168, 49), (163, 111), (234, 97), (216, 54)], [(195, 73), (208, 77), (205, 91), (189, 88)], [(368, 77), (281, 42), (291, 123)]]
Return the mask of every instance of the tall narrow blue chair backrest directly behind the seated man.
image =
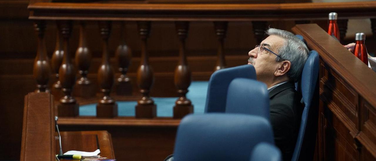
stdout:
[[(300, 122), (300, 129), (292, 161), (312, 160), (315, 147), (315, 138), (317, 131), (317, 104), (318, 102), (318, 72), (319, 58), (314, 50), (308, 53), (308, 59), (305, 62), (300, 80), (300, 90), (303, 97), (304, 109)], [(312, 101), (313, 100), (313, 101)]]

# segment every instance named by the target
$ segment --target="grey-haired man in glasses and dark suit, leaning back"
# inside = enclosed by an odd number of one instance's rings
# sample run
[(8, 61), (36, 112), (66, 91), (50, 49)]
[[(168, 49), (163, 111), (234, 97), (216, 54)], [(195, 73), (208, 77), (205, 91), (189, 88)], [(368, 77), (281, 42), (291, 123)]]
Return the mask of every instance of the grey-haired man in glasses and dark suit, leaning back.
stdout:
[(294, 82), (300, 78), (308, 48), (291, 32), (268, 29), (266, 33), (269, 36), (248, 53), (248, 64), (255, 67), (257, 80), (268, 87), (274, 140), (284, 161), (289, 161), (303, 110)]

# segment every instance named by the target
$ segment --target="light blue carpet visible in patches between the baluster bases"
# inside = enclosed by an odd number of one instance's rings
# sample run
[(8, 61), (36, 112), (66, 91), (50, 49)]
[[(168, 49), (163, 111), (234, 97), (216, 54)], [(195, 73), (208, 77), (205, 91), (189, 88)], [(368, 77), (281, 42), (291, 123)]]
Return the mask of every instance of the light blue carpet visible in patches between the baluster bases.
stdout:
[[(189, 92), (186, 97), (192, 101), (194, 106), (194, 113), (203, 113), (206, 102), (206, 92), (208, 90), (207, 81), (194, 81), (188, 88)], [(153, 97), (157, 105), (158, 117), (172, 117), (173, 106), (175, 105), (177, 97)], [(118, 115), (119, 116), (134, 116), (136, 101), (118, 101)], [(96, 105), (89, 104), (80, 106), (80, 116), (95, 116)]]

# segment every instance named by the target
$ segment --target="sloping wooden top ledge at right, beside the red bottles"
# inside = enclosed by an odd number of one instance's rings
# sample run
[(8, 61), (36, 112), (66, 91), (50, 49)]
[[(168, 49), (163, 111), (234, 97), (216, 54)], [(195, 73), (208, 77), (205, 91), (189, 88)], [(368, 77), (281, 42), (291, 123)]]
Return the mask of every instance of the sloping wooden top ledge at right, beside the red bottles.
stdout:
[(371, 106), (376, 107), (376, 73), (374, 71), (317, 24), (297, 24), (293, 27), (293, 31), (302, 35), (309, 48), (316, 50), (329, 67)]

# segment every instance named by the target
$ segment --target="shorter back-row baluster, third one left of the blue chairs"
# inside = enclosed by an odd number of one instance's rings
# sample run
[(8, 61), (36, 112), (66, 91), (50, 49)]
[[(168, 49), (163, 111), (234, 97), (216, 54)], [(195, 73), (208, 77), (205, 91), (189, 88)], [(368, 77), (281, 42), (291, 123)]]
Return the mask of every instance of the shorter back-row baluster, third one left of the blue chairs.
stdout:
[(116, 93), (118, 95), (132, 95), (132, 84), (130, 78), (127, 76), (130, 59), (132, 58), (132, 50), (125, 43), (124, 38), (124, 22), (121, 22), (120, 27), (120, 44), (115, 52), (116, 60), (118, 61), (120, 76), (116, 79)]

